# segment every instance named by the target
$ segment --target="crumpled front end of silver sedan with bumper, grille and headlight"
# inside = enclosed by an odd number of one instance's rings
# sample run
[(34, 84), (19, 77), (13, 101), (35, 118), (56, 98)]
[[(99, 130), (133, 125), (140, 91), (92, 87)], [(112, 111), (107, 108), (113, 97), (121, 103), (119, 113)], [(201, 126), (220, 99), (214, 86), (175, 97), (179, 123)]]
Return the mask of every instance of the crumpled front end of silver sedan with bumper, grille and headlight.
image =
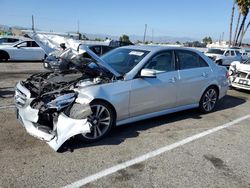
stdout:
[(90, 132), (91, 124), (87, 121), (92, 113), (90, 100), (81, 103), (81, 118), (75, 118), (71, 109), (80, 103), (76, 99), (77, 93), (73, 90), (33, 98), (19, 82), (15, 89), (17, 119), (30, 135), (46, 141), (57, 151), (72, 136)]

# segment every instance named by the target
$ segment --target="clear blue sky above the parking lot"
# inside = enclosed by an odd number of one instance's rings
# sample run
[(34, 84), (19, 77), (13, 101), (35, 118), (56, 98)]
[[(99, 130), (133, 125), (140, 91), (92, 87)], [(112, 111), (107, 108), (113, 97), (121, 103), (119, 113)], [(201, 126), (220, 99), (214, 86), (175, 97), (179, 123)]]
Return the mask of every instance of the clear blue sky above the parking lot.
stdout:
[[(46, 31), (228, 38), (233, 0), (0, 0), (0, 24)], [(235, 14), (236, 16), (236, 14)], [(246, 34), (249, 38), (250, 33)]]

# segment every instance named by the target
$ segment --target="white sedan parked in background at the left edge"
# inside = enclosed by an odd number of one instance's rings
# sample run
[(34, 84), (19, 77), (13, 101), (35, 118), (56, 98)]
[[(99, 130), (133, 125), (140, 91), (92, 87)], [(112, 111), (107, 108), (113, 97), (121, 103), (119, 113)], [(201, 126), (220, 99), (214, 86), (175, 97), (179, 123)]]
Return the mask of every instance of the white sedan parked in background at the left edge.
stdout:
[(0, 45), (0, 61), (42, 61), (45, 58), (44, 50), (31, 39)]

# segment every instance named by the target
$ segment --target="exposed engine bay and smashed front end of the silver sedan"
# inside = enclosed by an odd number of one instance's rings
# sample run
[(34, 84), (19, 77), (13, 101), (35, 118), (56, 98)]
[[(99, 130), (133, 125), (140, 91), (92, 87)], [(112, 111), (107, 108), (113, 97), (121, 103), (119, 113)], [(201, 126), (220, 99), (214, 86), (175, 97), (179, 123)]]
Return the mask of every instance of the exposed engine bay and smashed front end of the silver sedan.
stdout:
[(89, 61), (66, 71), (34, 74), (16, 85), (17, 118), (27, 132), (57, 150), (68, 138), (90, 132), (91, 100), (77, 101), (76, 89), (111, 81), (112, 74)]

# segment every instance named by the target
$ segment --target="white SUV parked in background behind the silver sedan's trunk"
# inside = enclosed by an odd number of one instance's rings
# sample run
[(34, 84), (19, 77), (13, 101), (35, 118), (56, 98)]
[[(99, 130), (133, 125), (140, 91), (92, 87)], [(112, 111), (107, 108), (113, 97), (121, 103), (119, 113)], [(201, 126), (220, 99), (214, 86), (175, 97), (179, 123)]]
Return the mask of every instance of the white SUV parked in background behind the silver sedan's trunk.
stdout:
[(242, 61), (241, 54), (236, 49), (209, 48), (204, 54), (218, 65), (223, 66), (230, 66), (233, 61)]

